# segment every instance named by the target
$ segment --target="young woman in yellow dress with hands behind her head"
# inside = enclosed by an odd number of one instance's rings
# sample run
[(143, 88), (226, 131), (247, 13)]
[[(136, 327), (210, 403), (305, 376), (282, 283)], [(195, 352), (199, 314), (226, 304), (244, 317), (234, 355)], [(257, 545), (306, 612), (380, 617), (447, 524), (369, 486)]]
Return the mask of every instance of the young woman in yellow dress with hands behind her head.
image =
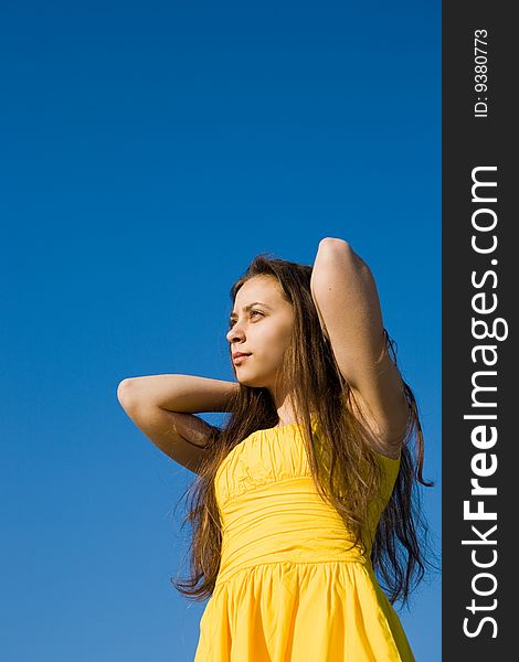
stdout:
[[(327, 237), (314, 267), (257, 256), (231, 299), (236, 382), (118, 388), (136, 425), (199, 474), (191, 577), (176, 583), (210, 598), (195, 662), (413, 661), (392, 605), (424, 575), (413, 488), (433, 483), (370, 269)], [(201, 412), (230, 417), (219, 428)]]

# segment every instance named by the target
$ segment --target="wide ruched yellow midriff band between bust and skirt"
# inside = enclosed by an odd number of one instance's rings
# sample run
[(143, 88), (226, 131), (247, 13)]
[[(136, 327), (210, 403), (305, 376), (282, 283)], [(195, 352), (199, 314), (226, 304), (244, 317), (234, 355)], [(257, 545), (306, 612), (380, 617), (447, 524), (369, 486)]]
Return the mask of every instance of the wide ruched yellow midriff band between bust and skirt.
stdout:
[(218, 584), (239, 569), (283, 560), (371, 565), (352, 544), (352, 534), (317, 492), (311, 476), (275, 481), (231, 499), (222, 509)]

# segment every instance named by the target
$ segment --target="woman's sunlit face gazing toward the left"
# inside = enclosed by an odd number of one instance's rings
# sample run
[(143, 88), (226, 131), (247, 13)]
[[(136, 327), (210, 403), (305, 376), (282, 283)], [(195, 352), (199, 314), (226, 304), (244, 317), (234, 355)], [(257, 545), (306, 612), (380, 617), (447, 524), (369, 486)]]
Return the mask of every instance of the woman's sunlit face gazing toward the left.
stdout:
[(294, 325), (294, 309), (272, 276), (254, 276), (239, 289), (226, 334), (237, 381), (246, 386), (274, 387)]

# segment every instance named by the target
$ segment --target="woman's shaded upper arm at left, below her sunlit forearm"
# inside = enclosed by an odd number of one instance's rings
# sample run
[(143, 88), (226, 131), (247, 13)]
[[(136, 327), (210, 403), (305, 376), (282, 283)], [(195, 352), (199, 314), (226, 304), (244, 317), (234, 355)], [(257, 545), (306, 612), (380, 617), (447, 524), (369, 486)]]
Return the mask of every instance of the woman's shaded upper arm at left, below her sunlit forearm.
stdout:
[(123, 398), (119, 402), (128, 417), (162, 452), (186, 469), (199, 473), (209, 452), (206, 446), (220, 428), (194, 414), (169, 412), (150, 404), (125, 405)]

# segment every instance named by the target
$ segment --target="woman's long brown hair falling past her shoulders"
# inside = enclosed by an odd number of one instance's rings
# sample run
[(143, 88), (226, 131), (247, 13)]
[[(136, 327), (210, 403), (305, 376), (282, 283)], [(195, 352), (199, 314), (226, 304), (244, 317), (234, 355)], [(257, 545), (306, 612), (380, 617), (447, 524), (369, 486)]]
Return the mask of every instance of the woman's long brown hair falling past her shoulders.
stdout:
[[(254, 276), (274, 278), (295, 312), (294, 328), (279, 373), (293, 385), (293, 402), (301, 423), (308, 463), (318, 492), (326, 496), (353, 533), (356, 544), (364, 547), (369, 505), (381, 488), (382, 469), (367, 444), (367, 428), (353, 414), (353, 394), (337, 366), (331, 345), (322, 333), (315, 307), (310, 277), (313, 267), (268, 254), (256, 256), (245, 274), (231, 288), (231, 300)], [(396, 364), (393, 341), (384, 330), (386, 351)], [(231, 348), (230, 348), (231, 357)], [(371, 546), (371, 562), (389, 599), (394, 602), (409, 596), (431, 565), (422, 546), (427, 525), (422, 517), (417, 483), (433, 487), (423, 479), (424, 441), (417, 405), (410, 386), (402, 380), (409, 405), (401, 465), (396, 482)], [(203, 466), (189, 488), (193, 490), (190, 510), (182, 522), (191, 522), (190, 577), (171, 578), (174, 587), (195, 601), (213, 592), (221, 560), (221, 520), (214, 492), (214, 478), (222, 460), (232, 448), (258, 429), (278, 424), (277, 410), (267, 388), (240, 385), (222, 428), (212, 428)], [(311, 427), (316, 412), (322, 435), (317, 444)], [(361, 471), (360, 467), (364, 469)], [(343, 498), (347, 494), (347, 499)]]

